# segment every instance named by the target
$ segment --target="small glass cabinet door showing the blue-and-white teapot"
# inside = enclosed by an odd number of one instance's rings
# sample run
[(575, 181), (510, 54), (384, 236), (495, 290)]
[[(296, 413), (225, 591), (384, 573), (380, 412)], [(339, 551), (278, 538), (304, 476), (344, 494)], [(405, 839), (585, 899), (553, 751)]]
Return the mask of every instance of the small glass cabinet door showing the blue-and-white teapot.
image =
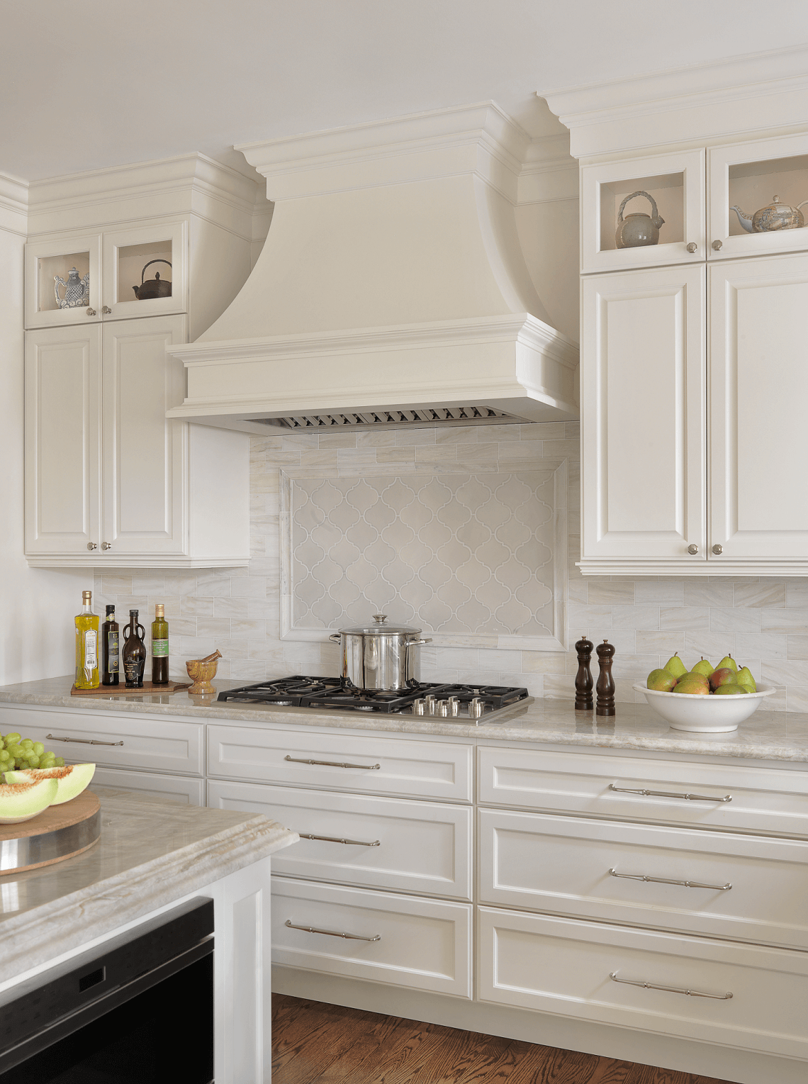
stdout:
[(49, 237), (25, 246), (25, 326), (101, 320), (101, 234)]

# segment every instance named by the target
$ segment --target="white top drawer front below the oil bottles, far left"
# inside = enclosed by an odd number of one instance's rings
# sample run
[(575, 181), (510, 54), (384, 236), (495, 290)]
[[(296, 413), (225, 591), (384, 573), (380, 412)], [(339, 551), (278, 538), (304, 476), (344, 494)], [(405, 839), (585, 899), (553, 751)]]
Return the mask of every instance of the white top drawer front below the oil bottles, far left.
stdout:
[[(107, 767), (204, 774), (201, 723), (177, 723), (134, 714), (102, 715), (83, 710), (36, 709), (15, 711), (13, 715), (14, 727), (24, 737), (43, 741), (47, 749), (64, 757), (69, 764), (91, 761)], [(4, 732), (8, 733), (8, 727)], [(53, 738), (48, 738), (48, 734)]]

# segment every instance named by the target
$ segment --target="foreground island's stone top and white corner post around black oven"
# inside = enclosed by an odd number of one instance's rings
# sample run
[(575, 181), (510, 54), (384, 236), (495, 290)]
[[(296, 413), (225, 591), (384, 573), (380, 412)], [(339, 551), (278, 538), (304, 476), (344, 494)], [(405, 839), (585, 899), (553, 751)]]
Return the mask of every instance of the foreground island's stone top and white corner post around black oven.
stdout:
[(101, 800), (97, 842), (0, 877), (0, 999), (88, 950), (102, 954), (121, 934), (138, 937), (178, 904), (212, 900), (216, 1080), (269, 1080), (270, 855), (297, 835), (262, 815), (92, 789)]

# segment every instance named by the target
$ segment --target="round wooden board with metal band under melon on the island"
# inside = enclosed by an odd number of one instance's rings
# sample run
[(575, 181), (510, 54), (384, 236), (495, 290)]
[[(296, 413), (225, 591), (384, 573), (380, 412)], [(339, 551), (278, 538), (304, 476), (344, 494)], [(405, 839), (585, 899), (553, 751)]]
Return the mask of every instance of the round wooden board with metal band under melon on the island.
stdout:
[(88, 850), (101, 835), (101, 802), (92, 790), (49, 805), (30, 821), (0, 824), (0, 877), (64, 862)]

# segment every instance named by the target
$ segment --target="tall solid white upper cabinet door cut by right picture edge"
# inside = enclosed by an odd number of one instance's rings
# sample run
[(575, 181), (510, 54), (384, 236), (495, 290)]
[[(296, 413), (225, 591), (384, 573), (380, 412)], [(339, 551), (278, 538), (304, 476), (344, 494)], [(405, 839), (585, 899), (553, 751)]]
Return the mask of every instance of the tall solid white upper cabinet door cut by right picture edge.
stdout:
[(805, 575), (808, 255), (716, 263), (709, 285), (709, 564)]

